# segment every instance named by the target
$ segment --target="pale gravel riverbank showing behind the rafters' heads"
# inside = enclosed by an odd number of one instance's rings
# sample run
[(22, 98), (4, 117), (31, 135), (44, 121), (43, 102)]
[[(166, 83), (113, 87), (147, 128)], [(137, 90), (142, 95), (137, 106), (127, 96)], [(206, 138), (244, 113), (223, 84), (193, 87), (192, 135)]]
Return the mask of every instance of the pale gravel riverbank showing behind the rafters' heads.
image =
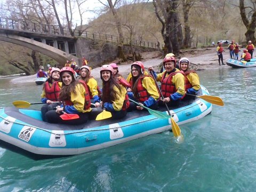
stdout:
[[(187, 57), (190, 61), (191, 68), (195, 70), (205, 70), (205, 69), (214, 69), (226, 66), (219, 66), (218, 55), (215, 51), (216, 47), (205, 48), (205, 49), (194, 49), (194, 50), (181, 50), (180, 57)], [(224, 63), (225, 60), (229, 58), (229, 51), (223, 52)], [(178, 58), (179, 59), (179, 58)], [(142, 53), (142, 62), (147, 69), (149, 66), (152, 66), (155, 71), (160, 71), (159, 65), (163, 61), (161, 58), (161, 53), (158, 51), (155, 52), (146, 52)], [(113, 61), (117, 62), (117, 61)], [(130, 73), (132, 61), (122, 63), (118, 66), (119, 73), (124, 77)], [(100, 67), (92, 69), (91, 75), (95, 78), (100, 78)], [(26, 83), (34, 82), (36, 79), (35, 75), (17, 77), (11, 80), (12, 83)]]

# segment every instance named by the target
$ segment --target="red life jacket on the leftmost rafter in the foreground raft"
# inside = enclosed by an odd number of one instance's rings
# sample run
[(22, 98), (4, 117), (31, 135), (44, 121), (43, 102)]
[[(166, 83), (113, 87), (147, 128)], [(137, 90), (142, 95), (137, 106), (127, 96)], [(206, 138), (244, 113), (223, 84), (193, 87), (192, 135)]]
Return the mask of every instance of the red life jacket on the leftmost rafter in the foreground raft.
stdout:
[(44, 91), (47, 99), (59, 101), (60, 87), (58, 85), (58, 81), (53, 82), (52, 86), (50, 86), (49, 82), (45, 82)]

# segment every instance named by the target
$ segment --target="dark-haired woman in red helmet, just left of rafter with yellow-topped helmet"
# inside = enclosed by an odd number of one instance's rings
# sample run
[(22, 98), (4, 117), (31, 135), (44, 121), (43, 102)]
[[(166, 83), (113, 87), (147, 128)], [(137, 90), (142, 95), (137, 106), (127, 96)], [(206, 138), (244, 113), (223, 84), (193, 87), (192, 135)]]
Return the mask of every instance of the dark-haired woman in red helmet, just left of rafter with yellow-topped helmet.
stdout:
[[(132, 81), (131, 89), (129, 92), (129, 98), (136, 100), (140, 105), (146, 106), (150, 109), (158, 108), (159, 93), (157, 85), (151, 75), (144, 75), (144, 65), (142, 62), (134, 62), (131, 66)], [(129, 111), (132, 110), (143, 110), (141, 106), (131, 102)]]

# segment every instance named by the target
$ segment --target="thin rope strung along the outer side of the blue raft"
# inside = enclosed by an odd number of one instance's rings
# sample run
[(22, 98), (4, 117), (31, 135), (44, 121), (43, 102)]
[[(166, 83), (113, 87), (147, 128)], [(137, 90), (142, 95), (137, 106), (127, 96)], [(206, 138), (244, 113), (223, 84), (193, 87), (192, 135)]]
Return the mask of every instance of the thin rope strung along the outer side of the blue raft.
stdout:
[[(197, 103), (196, 105), (193, 105), (193, 106), (190, 106), (190, 107), (187, 107), (185, 109), (181, 109), (173, 114), (177, 114), (177, 113), (180, 113), (181, 111), (183, 110), (186, 110), (186, 109), (189, 109), (191, 107), (194, 107), (194, 106), (197, 106), (197, 105), (201, 105), (202, 102), (200, 103)], [(173, 114), (171, 114), (173, 116)], [(42, 130), (42, 131), (45, 131), (47, 133), (51, 133), (51, 134), (58, 134), (58, 135), (68, 135), (68, 134), (75, 134), (75, 133), (86, 133), (86, 132), (92, 132), (92, 131), (106, 131), (106, 130), (111, 130), (111, 129), (118, 129), (118, 128), (122, 128), (122, 127), (125, 127), (125, 126), (130, 126), (130, 125), (134, 125), (134, 124), (138, 124), (138, 122), (135, 122), (135, 123), (130, 123), (130, 124), (126, 124), (126, 125), (122, 125), (122, 126), (119, 126), (119, 127), (111, 127), (111, 128), (105, 128), (105, 129), (97, 129), (97, 130), (83, 130), (83, 131), (76, 131), (76, 132), (69, 132), (69, 133), (53, 133), (52, 131), (59, 131), (59, 130), (45, 130), (41, 127), (37, 127), (37, 126), (34, 126), (34, 125), (28, 125), (28, 124), (25, 124), (25, 123), (19, 123), (19, 122), (14, 122), (14, 121), (10, 121), (9, 119), (6, 119), (4, 118), (3, 116), (0, 115), (0, 117), (2, 119), (4, 119), (6, 122), (9, 122), (9, 123), (14, 123), (14, 124), (18, 124), (18, 125), (23, 125), (23, 126), (29, 126), (29, 127), (34, 127), (36, 129), (39, 129), (39, 130)], [(140, 121), (141, 123), (142, 122), (147, 122), (147, 121), (151, 121), (153, 119), (157, 119), (158, 117), (154, 117), (154, 118), (150, 118), (150, 119), (147, 119), (147, 120), (143, 120), (143, 121)], [(63, 131), (63, 130), (60, 130), (60, 131)], [(67, 131), (71, 131), (71, 130), (67, 130)]]

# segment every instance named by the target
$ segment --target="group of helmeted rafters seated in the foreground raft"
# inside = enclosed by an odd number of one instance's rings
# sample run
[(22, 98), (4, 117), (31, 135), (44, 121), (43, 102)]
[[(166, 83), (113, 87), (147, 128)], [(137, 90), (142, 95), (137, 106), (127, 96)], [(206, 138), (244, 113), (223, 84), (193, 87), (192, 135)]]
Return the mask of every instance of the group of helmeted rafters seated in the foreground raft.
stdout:
[[(188, 58), (179, 60), (179, 70), (174, 55), (169, 53), (163, 65), (163, 73), (156, 74), (149, 67), (149, 75), (141, 61), (134, 62), (126, 80), (119, 74), (116, 63), (103, 65), (100, 68), (102, 90), (87, 65), (81, 67), (77, 78), (71, 67), (53, 67), (41, 95), (42, 102), (46, 103), (41, 109), (43, 121), (78, 125), (95, 119), (103, 109), (111, 113), (111, 118), (119, 119), (127, 112), (145, 110), (143, 106), (154, 110), (165, 103), (178, 106), (181, 100), (188, 97), (186, 93), (196, 94), (201, 89), (198, 75), (189, 70)], [(155, 80), (161, 82), (163, 99)], [(129, 98), (139, 102), (139, 105), (130, 102)], [(79, 118), (63, 120), (60, 115), (65, 113), (78, 114)]]

